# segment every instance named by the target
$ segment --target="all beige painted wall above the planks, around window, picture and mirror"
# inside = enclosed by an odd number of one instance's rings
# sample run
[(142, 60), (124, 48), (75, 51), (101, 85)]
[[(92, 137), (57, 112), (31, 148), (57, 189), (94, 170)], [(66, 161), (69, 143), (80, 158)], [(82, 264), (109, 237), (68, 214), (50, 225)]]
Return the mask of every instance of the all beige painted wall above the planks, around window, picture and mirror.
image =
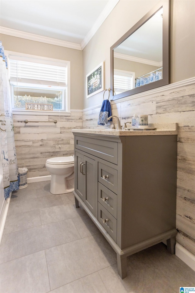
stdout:
[[(101, 104), (103, 98), (103, 92), (86, 98), (86, 75), (104, 61), (105, 89), (110, 87), (110, 47), (156, 3), (158, 0), (120, 0), (83, 51), (5, 34), (0, 39), (5, 50), (70, 61), (71, 109), (86, 109)], [(171, 83), (195, 76), (194, 14), (194, 0), (171, 1)]]

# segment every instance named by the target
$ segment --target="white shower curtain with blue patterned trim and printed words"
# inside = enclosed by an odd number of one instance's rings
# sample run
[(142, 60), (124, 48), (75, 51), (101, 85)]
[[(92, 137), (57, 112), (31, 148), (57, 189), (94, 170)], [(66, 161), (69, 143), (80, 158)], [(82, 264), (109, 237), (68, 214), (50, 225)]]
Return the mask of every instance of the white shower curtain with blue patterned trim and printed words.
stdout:
[(4, 197), (19, 189), (19, 172), (13, 132), (13, 118), (8, 69), (4, 48), (0, 41), (0, 155), (3, 170)]

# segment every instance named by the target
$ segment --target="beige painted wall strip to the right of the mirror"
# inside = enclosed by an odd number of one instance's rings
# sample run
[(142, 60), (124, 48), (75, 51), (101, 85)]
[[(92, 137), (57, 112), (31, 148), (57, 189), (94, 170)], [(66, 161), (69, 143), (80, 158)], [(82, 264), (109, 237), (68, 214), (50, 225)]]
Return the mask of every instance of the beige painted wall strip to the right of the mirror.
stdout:
[(171, 0), (171, 83), (195, 76), (195, 1)]

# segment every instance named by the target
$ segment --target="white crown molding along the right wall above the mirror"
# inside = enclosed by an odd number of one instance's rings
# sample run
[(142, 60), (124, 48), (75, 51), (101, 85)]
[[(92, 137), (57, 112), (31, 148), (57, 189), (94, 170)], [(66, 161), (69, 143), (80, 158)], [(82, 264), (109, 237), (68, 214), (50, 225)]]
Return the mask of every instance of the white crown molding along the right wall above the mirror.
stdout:
[(108, 4), (105, 6), (105, 9), (102, 11), (102, 13), (100, 14), (100, 16), (96, 20), (96, 22), (93, 25), (93, 27), (90, 29), (90, 31), (88, 32), (88, 34), (86, 35), (86, 37), (81, 42), (81, 49), (82, 50), (85, 48), (85, 46), (88, 44), (88, 42), (90, 41), (90, 39), (94, 36), (94, 34), (98, 30), (98, 28), (103, 24), (103, 22), (105, 21), (105, 19), (111, 13), (112, 9), (115, 8), (116, 4), (119, 1), (120, 0), (110, 0), (108, 2)]

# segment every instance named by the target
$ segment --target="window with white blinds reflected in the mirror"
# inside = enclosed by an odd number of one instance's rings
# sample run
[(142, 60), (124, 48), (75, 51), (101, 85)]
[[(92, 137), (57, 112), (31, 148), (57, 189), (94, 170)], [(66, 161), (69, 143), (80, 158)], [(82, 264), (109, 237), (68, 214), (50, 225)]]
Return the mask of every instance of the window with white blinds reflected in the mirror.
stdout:
[(126, 92), (135, 87), (135, 72), (114, 70), (114, 91), (115, 95)]

